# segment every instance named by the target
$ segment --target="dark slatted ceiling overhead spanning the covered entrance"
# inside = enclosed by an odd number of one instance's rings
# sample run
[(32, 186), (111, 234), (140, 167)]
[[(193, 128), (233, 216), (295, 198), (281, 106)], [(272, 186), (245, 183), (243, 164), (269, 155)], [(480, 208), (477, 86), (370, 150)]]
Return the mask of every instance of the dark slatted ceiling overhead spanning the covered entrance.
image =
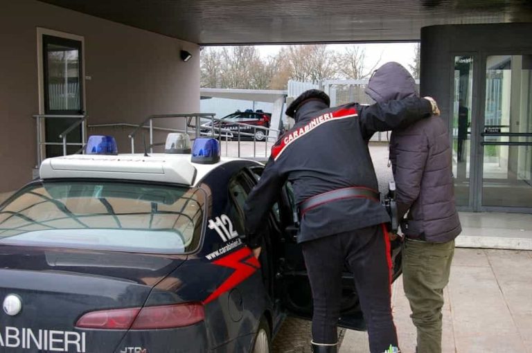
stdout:
[(419, 39), (434, 24), (532, 22), (530, 0), (42, 0), (197, 44)]

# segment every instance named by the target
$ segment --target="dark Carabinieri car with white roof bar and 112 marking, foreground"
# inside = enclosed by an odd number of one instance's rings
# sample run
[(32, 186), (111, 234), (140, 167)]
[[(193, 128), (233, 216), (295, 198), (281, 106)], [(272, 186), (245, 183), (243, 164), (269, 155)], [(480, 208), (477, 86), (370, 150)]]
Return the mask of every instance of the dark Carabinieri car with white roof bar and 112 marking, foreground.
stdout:
[[(290, 184), (256, 259), (242, 207), (263, 165), (215, 139), (166, 147), (105, 155), (93, 136), (0, 206), (1, 352), (271, 352), (285, 314), (312, 316)], [(340, 325), (364, 329), (348, 273)]]

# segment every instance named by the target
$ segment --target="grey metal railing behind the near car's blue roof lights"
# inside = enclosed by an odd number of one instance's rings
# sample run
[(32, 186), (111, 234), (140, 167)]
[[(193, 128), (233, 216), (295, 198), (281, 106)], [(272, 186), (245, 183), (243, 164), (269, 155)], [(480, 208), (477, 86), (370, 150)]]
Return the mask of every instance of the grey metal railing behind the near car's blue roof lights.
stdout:
[[(164, 118), (181, 118), (186, 120), (186, 125), (184, 130), (179, 129), (172, 129), (172, 131), (175, 132), (184, 132), (186, 134), (193, 134), (195, 135), (195, 138), (198, 138), (199, 136), (213, 136), (214, 138), (217, 138), (218, 141), (220, 141), (220, 144), (222, 142), (225, 143), (225, 151), (227, 155), (227, 147), (229, 145), (229, 138), (233, 140), (235, 137), (238, 141), (238, 157), (241, 155), (241, 141), (243, 137), (249, 137), (253, 140), (253, 157), (256, 158), (257, 156), (257, 140), (264, 139), (265, 143), (265, 157), (268, 156), (268, 146), (267, 142), (270, 140), (276, 141), (277, 135), (279, 133), (278, 129), (272, 129), (269, 127), (263, 127), (258, 125), (249, 125), (245, 123), (237, 123), (237, 122), (227, 122), (227, 120), (222, 120), (215, 118), (215, 114), (210, 113), (195, 113), (195, 114), (163, 114), (163, 115), (152, 115), (148, 116), (142, 123), (139, 125), (136, 125), (136, 128), (128, 135), (128, 137), (131, 140), (131, 153), (135, 152), (134, 147), (134, 141), (135, 136), (142, 128), (148, 128), (150, 130), (150, 143), (146, 147), (149, 148), (150, 153), (153, 153), (153, 147), (164, 145), (164, 143), (154, 143), (153, 141), (153, 132), (155, 129), (168, 129), (168, 128), (161, 128), (161, 127), (154, 127), (153, 120), (159, 120)], [(206, 123), (202, 125), (202, 119), (210, 120), (210, 124)], [(218, 123), (219, 126), (216, 126), (215, 123)], [(233, 125), (233, 129), (227, 129), (222, 127), (222, 123), (228, 123), (230, 125)], [(234, 126), (236, 126), (236, 130), (234, 129)], [(242, 130), (251, 130), (251, 132), (242, 132)], [(258, 134), (258, 132), (263, 132), (262, 134)], [(275, 136), (269, 136), (270, 132), (274, 132)], [(224, 140), (222, 139), (224, 138)], [(262, 141), (260, 141), (262, 142)]]

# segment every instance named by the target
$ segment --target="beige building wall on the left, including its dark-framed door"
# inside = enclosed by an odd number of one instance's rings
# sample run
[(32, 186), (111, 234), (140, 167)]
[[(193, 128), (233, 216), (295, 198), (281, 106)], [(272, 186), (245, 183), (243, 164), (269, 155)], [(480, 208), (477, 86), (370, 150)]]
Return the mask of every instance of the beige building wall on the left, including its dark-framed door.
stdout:
[[(32, 179), (35, 114), (87, 114), (90, 126), (199, 111), (197, 44), (34, 0), (3, 1), (0, 38), (0, 193)], [(190, 60), (181, 60), (181, 51)], [(76, 121), (48, 120), (47, 141), (60, 141)], [(120, 152), (128, 152), (131, 130), (89, 132), (116, 135)], [(79, 127), (68, 138), (80, 142)], [(43, 152), (54, 155), (57, 148)]]

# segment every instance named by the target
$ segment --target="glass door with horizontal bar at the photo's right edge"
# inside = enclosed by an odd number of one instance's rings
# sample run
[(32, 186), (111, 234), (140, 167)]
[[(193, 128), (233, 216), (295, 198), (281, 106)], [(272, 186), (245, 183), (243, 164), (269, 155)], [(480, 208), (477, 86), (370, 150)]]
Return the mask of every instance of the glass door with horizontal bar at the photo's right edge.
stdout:
[(482, 209), (532, 212), (532, 55), (486, 57)]

